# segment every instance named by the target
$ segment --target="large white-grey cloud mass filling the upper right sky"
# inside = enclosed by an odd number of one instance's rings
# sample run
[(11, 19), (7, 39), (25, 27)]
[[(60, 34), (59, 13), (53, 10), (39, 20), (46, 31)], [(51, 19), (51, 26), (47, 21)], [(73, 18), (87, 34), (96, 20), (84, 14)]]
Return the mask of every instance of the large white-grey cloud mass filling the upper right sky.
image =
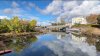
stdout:
[(89, 14), (100, 14), (100, 1), (99, 0), (54, 0), (45, 9), (40, 9), (35, 5), (38, 11), (44, 14), (57, 15), (58, 18), (67, 18), (73, 16), (87, 16)]

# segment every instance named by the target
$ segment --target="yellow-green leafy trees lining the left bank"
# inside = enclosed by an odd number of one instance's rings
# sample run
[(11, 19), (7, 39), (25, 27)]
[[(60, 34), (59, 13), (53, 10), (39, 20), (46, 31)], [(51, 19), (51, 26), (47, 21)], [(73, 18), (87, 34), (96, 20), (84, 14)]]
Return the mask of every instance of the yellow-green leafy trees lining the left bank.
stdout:
[(26, 32), (34, 30), (34, 27), (36, 26), (37, 21), (26, 21), (21, 20), (17, 16), (13, 17), (12, 19), (1, 19), (0, 20), (0, 32)]

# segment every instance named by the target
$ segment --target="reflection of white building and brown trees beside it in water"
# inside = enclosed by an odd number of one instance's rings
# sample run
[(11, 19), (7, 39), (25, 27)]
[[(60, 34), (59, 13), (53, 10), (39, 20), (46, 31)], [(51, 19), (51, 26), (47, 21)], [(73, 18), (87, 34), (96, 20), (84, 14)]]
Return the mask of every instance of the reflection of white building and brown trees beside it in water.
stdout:
[(97, 38), (91, 38), (91, 37), (76, 37), (74, 35), (72, 35), (72, 39), (74, 41), (79, 41), (79, 43), (83, 43), (83, 41), (86, 41), (89, 46), (95, 46), (97, 51), (100, 51), (100, 41), (98, 41)]

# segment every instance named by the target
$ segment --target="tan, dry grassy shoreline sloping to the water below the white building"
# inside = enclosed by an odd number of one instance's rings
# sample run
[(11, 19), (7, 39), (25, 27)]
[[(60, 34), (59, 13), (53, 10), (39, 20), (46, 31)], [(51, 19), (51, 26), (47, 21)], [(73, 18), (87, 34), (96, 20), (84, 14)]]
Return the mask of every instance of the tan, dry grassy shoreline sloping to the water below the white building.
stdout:
[(76, 29), (79, 29), (81, 34), (92, 36), (92, 37), (99, 37), (100, 36), (100, 29), (95, 27), (74, 27)]

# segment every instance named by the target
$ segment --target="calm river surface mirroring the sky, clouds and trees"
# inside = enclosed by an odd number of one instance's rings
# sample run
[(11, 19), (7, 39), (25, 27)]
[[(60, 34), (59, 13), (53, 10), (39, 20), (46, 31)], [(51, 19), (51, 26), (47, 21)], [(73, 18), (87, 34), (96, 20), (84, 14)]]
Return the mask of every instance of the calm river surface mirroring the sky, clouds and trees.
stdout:
[(13, 52), (4, 56), (100, 56), (99, 37), (53, 32), (4, 42)]

